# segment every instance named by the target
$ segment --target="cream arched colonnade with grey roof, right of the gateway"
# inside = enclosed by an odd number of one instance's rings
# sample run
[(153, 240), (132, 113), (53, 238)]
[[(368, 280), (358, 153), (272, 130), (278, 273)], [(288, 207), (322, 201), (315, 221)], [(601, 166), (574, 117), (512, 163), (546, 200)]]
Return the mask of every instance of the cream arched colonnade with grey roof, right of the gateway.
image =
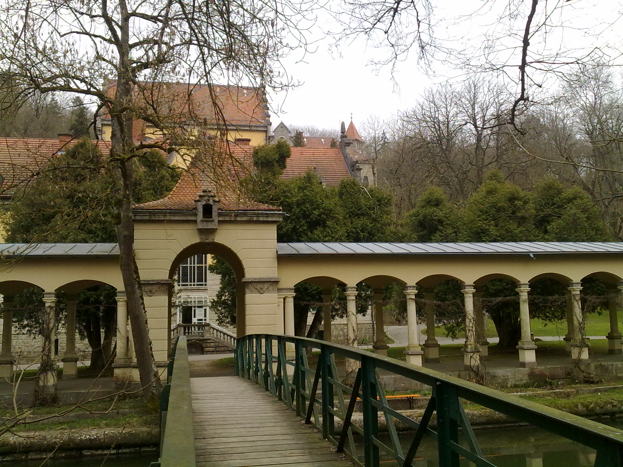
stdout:
[[(411, 252), (396, 252), (407, 245), (411, 245)], [(617, 313), (621, 311), (623, 303), (623, 255), (621, 252), (609, 251), (610, 248), (621, 248), (621, 245), (601, 244), (611, 245), (604, 247), (603, 251), (588, 245), (591, 244), (445, 244), (443, 248), (454, 250), (449, 253), (440, 249), (442, 245), (435, 247), (434, 244), (280, 243), (278, 273), (282, 280), (279, 283), (278, 307), (283, 310), (285, 332), (290, 334), (293, 332), (294, 319), (293, 287), (301, 281), (307, 281), (323, 290), (323, 314), (325, 323), (329, 323), (330, 290), (338, 283), (346, 285), (348, 341), (354, 346), (357, 340), (356, 285), (367, 283), (374, 290), (377, 336), (374, 348), (378, 352), (386, 352), (383, 287), (398, 281), (404, 285), (407, 300), (407, 362), (421, 365), (422, 360), (439, 361), (439, 342), (435, 336), (434, 287), (445, 280), (457, 280), (462, 285), (465, 309), (464, 364), (465, 367), (474, 368), (488, 355), (489, 342), (483, 332), (485, 316), (482, 288), (490, 280), (503, 278), (516, 284), (519, 299), (521, 339), (517, 348), (520, 366), (535, 367), (537, 347), (531, 337), (528, 303), (531, 283), (541, 278), (550, 278), (566, 287), (568, 332), (564, 340), (571, 359), (583, 361), (588, 359), (589, 349), (581, 334), (582, 281), (587, 277), (596, 277), (606, 284), (610, 297), (611, 329), (607, 336), (609, 352), (621, 353)], [(313, 274), (310, 274), (312, 271)], [(426, 300), (426, 309), (420, 311), (426, 314), (427, 336), (424, 342), (417, 326), (418, 289), (423, 291), (422, 298)], [(326, 330), (325, 339), (331, 339), (331, 333)]]

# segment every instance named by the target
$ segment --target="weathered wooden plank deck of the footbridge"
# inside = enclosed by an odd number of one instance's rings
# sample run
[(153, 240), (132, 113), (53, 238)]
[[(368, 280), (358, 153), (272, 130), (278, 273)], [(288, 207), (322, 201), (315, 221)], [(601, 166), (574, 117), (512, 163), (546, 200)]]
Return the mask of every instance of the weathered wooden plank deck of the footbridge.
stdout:
[(319, 433), (237, 376), (191, 378), (197, 466), (352, 467)]

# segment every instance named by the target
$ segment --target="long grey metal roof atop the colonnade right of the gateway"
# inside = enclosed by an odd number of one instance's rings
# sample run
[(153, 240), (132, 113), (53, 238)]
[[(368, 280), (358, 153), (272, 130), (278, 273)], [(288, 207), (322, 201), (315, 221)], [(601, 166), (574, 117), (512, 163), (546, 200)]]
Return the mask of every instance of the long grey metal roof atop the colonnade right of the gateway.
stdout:
[(277, 243), (278, 255), (452, 255), (623, 253), (623, 242)]

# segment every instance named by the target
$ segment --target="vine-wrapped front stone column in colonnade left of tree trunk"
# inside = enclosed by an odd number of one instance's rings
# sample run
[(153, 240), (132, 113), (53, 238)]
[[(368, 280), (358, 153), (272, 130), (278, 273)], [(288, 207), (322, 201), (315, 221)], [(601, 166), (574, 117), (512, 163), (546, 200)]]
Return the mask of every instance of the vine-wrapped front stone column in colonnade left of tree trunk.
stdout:
[(56, 297), (54, 292), (45, 292), (43, 316), (43, 349), (41, 354), (41, 366), (37, 373), (34, 400), (38, 403), (50, 402), (56, 395), (56, 370), (54, 364), (54, 341), (56, 339)]

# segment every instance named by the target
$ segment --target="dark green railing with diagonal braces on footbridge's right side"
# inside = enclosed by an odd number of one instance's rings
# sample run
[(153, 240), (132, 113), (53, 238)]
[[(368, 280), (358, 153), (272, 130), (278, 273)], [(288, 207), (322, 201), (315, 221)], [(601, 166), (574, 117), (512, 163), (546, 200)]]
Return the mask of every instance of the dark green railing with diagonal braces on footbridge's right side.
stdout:
[[(288, 351), (287, 343), (293, 344)], [(308, 364), (306, 349), (320, 350), (315, 368)], [(353, 385), (343, 384), (335, 357), (358, 362)], [(290, 357), (290, 359), (288, 359)], [(356, 365), (357, 366), (357, 365)], [(389, 407), (379, 379), (379, 370), (432, 387), (432, 397), (419, 422)], [(503, 413), (548, 432), (577, 441), (596, 450), (595, 467), (623, 467), (623, 433), (607, 425), (570, 413), (504, 394), (396, 359), (304, 337), (250, 334), (239, 337), (235, 354), (235, 374), (252, 380), (312, 423), (323, 438), (337, 446), (356, 466), (377, 467), (381, 451), (396, 459), (399, 467), (411, 467), (424, 436), (437, 441), (439, 467), (458, 467), (464, 457), (478, 467), (495, 467), (487, 461), (461, 400)], [(353, 423), (358, 399), (363, 407), (363, 427)], [(379, 436), (378, 415), (385, 418), (389, 443)], [(431, 423), (435, 415), (435, 422)], [(342, 428), (336, 431), (336, 418)], [(396, 420), (415, 430), (411, 443), (403, 449)], [(435, 428), (435, 430), (433, 430)], [(459, 428), (462, 432), (460, 441)], [(363, 437), (363, 456), (359, 455)], [(363, 459), (363, 461), (362, 461)]]

